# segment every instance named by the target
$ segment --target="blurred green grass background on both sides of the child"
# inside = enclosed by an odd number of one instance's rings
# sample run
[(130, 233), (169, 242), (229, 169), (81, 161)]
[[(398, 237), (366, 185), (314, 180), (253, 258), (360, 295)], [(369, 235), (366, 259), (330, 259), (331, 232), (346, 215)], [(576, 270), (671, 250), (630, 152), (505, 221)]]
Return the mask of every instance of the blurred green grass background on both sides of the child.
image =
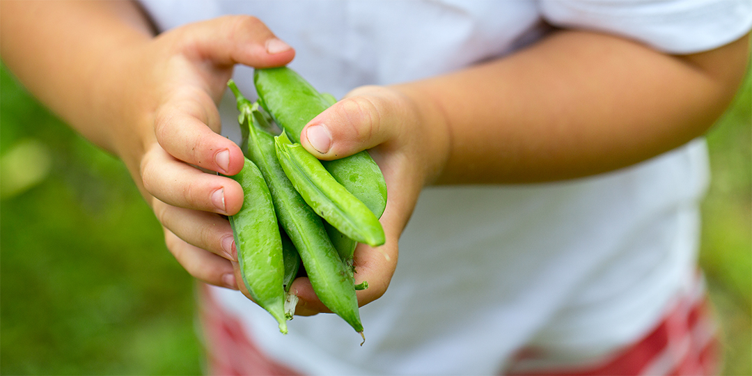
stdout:
[[(752, 86), (708, 133), (701, 261), (723, 374), (752, 374)], [(0, 374), (200, 374), (193, 280), (122, 163), (0, 66)], [(24, 178), (28, 181), (24, 181)]]

